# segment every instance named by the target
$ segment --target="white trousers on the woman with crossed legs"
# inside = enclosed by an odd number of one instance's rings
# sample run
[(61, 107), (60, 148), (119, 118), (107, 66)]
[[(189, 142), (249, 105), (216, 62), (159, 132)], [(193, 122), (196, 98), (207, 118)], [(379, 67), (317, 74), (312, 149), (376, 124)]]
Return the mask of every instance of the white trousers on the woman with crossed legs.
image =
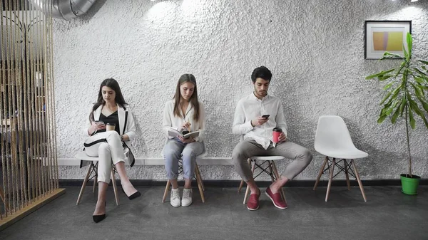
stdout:
[(89, 157), (98, 157), (98, 182), (110, 183), (111, 163), (125, 162), (121, 137), (116, 131), (99, 132), (85, 141)]

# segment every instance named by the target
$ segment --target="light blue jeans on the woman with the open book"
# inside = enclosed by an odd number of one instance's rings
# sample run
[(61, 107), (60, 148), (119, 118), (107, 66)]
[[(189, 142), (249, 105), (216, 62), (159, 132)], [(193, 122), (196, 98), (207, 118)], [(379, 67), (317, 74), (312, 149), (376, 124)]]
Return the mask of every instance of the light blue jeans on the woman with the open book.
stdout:
[(178, 139), (169, 139), (163, 147), (166, 177), (177, 179), (178, 160), (183, 160), (183, 177), (193, 179), (195, 174), (196, 156), (203, 153), (202, 142), (183, 143)]

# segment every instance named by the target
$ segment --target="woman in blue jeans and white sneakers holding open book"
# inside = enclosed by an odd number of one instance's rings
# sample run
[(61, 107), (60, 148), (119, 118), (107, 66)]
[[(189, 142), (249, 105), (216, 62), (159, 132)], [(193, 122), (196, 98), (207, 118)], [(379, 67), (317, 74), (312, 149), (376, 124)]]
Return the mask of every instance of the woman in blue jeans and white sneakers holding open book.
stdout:
[[(198, 137), (184, 139), (181, 136), (170, 137), (168, 130), (180, 132), (200, 131)], [(205, 130), (205, 109), (198, 100), (198, 90), (195, 76), (183, 74), (178, 79), (173, 100), (165, 104), (163, 111), (163, 132), (168, 141), (163, 148), (165, 170), (172, 185), (170, 204), (173, 207), (188, 207), (192, 204), (191, 182), (195, 174), (196, 156), (204, 150), (203, 133)], [(178, 189), (178, 160), (183, 160), (184, 188), (180, 198)]]

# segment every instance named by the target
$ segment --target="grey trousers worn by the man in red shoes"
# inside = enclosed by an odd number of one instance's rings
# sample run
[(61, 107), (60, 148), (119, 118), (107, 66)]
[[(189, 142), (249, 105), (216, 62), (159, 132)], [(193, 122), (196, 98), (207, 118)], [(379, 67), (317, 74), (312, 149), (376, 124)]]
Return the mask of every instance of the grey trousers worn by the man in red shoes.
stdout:
[(243, 140), (233, 149), (232, 159), (236, 172), (245, 182), (253, 179), (253, 174), (247, 162), (248, 158), (253, 156), (283, 156), (294, 160), (287, 165), (285, 172), (282, 173), (282, 176), (290, 180), (300, 174), (312, 160), (310, 151), (294, 142), (278, 142), (276, 147), (270, 144), (265, 150), (255, 140)]

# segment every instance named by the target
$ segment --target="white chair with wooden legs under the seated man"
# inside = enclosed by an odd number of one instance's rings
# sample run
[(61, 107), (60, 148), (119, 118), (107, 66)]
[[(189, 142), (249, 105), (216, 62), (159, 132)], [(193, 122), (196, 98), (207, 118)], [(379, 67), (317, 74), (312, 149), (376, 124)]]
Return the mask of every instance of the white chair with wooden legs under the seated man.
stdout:
[[(282, 157), (282, 156), (254, 156), (248, 159), (248, 165), (251, 166), (251, 172), (253, 172), (254, 179), (258, 177), (260, 174), (262, 174), (263, 172), (265, 172), (270, 176), (270, 179), (272, 180), (272, 182), (275, 182), (276, 179), (280, 177), (280, 174), (278, 174), (274, 160), (284, 160), (284, 159), (285, 157)], [(257, 161), (261, 161), (261, 163), (259, 164)], [(265, 165), (265, 167), (263, 165)], [(255, 169), (260, 169), (260, 172), (254, 176)], [(243, 184), (244, 184), (244, 181), (241, 180), (238, 188), (238, 192), (240, 192), (240, 190), (242, 189)], [(245, 197), (243, 202), (244, 204), (245, 202), (247, 202), (248, 194), (250, 194), (249, 187), (247, 187), (247, 189), (245, 190)], [(282, 187), (281, 187), (280, 194), (282, 199), (284, 199), (284, 201), (287, 202), (285, 200), (285, 192), (284, 192), (284, 189), (282, 189)]]

